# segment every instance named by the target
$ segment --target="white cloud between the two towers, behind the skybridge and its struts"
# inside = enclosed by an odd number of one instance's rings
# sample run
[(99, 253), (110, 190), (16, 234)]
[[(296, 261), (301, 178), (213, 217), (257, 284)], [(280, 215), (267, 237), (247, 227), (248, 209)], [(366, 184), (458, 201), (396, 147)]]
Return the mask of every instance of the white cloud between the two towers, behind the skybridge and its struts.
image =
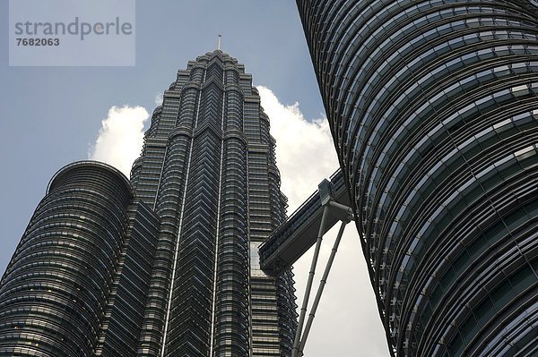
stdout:
[[(325, 118), (307, 120), (300, 113), (298, 103), (282, 104), (271, 89), (257, 89), (265, 113), (271, 118), (282, 191), (290, 200), (291, 213), (316, 191), (318, 183), (338, 168), (329, 125)], [(324, 236), (308, 311), (337, 231), (335, 225)], [(294, 264), (299, 309), (312, 255), (310, 249)], [(359, 235), (352, 223), (343, 234), (304, 353), (309, 357), (389, 355)]]

